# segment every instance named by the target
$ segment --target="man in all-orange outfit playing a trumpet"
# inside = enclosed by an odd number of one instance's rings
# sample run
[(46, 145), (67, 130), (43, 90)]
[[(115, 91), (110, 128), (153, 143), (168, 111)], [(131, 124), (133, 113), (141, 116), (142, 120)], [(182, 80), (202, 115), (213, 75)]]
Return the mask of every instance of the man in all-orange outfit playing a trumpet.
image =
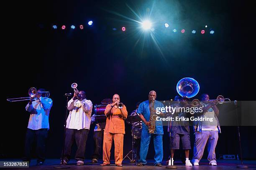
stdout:
[(124, 119), (126, 119), (127, 114), (125, 105), (120, 103), (119, 95), (113, 95), (113, 103), (108, 104), (105, 110), (107, 120), (103, 138), (103, 163), (100, 166), (110, 165), (110, 150), (113, 138), (115, 144), (115, 165), (123, 166)]

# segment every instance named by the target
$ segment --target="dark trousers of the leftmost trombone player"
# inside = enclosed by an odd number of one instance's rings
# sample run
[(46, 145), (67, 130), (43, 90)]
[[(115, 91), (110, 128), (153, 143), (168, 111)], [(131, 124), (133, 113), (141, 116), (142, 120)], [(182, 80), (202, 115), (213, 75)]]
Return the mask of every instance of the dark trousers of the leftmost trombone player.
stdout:
[(45, 149), (46, 149), (46, 139), (48, 135), (48, 129), (38, 129), (32, 130), (27, 129), (26, 140), (25, 140), (25, 157), (23, 161), (31, 160), (31, 146), (33, 144), (34, 139), (36, 138), (36, 155), (37, 162), (44, 162), (45, 160)]

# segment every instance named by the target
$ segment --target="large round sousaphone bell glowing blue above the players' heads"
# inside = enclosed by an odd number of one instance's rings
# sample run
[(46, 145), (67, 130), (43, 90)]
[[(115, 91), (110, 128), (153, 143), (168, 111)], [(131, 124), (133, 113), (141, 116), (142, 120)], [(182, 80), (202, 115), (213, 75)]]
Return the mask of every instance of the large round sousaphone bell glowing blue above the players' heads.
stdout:
[(179, 80), (176, 86), (177, 92), (179, 95), (187, 96), (189, 98), (194, 97), (199, 92), (200, 86), (197, 80), (185, 77)]

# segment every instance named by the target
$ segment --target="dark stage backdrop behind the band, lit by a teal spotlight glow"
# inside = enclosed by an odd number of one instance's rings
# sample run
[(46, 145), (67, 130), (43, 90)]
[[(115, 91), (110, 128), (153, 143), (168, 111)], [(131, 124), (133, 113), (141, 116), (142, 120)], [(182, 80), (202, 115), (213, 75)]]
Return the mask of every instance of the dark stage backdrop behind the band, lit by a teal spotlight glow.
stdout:
[[(231, 100), (255, 100), (254, 85), (250, 82), (254, 70), (250, 59), (255, 55), (251, 48), (253, 41), (249, 39), (253, 5), (222, 0), (16, 3), (9, 9), (5, 62), (2, 59), (2, 65), (7, 69), (2, 71), (5, 77), (2, 89), (8, 98), (28, 96), (30, 87), (51, 92), (53, 107), (49, 118), (47, 158), (60, 157), (66, 104), (64, 93), (72, 92), (73, 82), (77, 82), (78, 90), (86, 91), (87, 99), (94, 105), (118, 93), (129, 113), (135, 109), (136, 102), (147, 100), (150, 90), (157, 92), (157, 100), (173, 99), (177, 95), (177, 82), (183, 77), (192, 77), (199, 82), (200, 92), (195, 98), (208, 93), (211, 99), (223, 95)], [(152, 11), (151, 18), (156, 24), (171, 23), (169, 31), (159, 26), (153, 36), (140, 32), (136, 22), (121, 16), (139, 20), (129, 7), (141, 18)], [(88, 20), (93, 20), (92, 27), (87, 26)], [(51, 29), (53, 24), (58, 25), (57, 30)], [(66, 30), (60, 29), (63, 24), (67, 26)], [(70, 30), (72, 24), (76, 25), (75, 30)], [(78, 29), (80, 24), (84, 25), (84, 30)], [(199, 33), (206, 24), (215, 30), (214, 35)], [(126, 32), (120, 31), (122, 26), (126, 27)], [(113, 31), (114, 27), (118, 30)], [(173, 28), (178, 31), (187, 28), (187, 34), (173, 34)], [(190, 33), (192, 29), (197, 30), (196, 35)], [(23, 155), (29, 118), (26, 104), (4, 102), (2, 158)], [(86, 158), (90, 158), (94, 149), (93, 128), (94, 125), (87, 140)], [(131, 127), (126, 125), (125, 128), (124, 155), (131, 150)], [(169, 137), (166, 127), (164, 130), (166, 159)], [(255, 127), (241, 127), (246, 159), (256, 158), (255, 130)], [(192, 133), (191, 139), (193, 146)], [(222, 127), (217, 158), (219, 154), (237, 153), (236, 127)], [(113, 152), (111, 157), (113, 159)], [(153, 157), (151, 143), (148, 158)]]

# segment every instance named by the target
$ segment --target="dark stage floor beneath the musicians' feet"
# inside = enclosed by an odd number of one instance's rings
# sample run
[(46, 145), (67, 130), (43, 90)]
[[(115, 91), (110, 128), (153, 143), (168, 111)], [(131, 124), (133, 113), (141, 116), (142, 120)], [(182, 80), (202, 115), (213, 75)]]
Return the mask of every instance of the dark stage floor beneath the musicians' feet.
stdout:
[[(16, 161), (19, 161), (15, 159)], [(3, 160), (0, 161), (15, 161), (15, 160)], [(46, 159), (44, 165), (36, 166), (36, 160), (32, 160), (30, 163), (30, 170), (54, 170), (55, 166), (59, 166), (60, 160), (59, 159)], [(117, 167), (114, 164), (114, 161), (111, 161), (110, 166), (100, 167), (100, 164), (102, 163), (102, 160), (100, 160), (98, 163), (92, 164), (91, 160), (85, 160), (84, 166), (76, 166), (75, 160), (70, 160), (68, 163), (68, 166), (70, 166), (69, 170), (154, 170), (154, 169), (165, 169), (166, 163), (165, 161), (162, 162), (162, 167), (155, 167), (154, 166), (154, 160), (148, 160), (148, 163), (146, 166), (138, 167), (135, 165), (135, 163), (130, 163), (128, 160), (123, 161), (123, 167)], [(239, 165), (241, 163), (240, 160), (217, 160), (218, 166), (210, 166), (208, 165), (208, 160), (201, 160), (200, 166), (192, 166), (192, 167), (186, 167), (184, 164), (182, 164), (181, 161), (177, 160), (174, 161), (174, 164), (177, 165), (179, 170), (234, 170), (238, 169), (236, 168), (236, 165)], [(245, 160), (244, 164), (248, 165), (247, 170), (256, 170), (256, 160)], [(2, 168), (3, 169), (3, 168)], [(6, 170), (18, 170), (24, 168), (5, 168)], [(25, 168), (26, 169), (26, 168)]]

